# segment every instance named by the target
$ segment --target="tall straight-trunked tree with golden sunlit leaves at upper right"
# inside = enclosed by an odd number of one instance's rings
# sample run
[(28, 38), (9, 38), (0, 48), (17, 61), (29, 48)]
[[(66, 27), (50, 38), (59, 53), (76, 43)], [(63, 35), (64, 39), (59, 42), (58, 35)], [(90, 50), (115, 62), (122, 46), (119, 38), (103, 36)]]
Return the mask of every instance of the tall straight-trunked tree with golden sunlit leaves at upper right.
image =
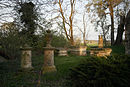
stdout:
[[(111, 18), (111, 45), (114, 45), (114, 7), (120, 4), (123, 0), (93, 0), (91, 3), (87, 4), (86, 7), (90, 9), (93, 6), (98, 16), (110, 15)], [(109, 12), (106, 12), (109, 9)]]

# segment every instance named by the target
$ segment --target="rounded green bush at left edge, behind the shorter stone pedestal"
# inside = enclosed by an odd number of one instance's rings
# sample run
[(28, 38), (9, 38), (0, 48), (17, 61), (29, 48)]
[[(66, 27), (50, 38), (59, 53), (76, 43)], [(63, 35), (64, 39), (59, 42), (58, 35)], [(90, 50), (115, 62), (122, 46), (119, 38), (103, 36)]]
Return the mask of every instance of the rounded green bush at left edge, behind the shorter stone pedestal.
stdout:
[[(11, 25), (11, 26), (10, 26)], [(8, 57), (9, 59), (15, 59), (20, 56), (20, 46), (21, 40), (18, 34), (18, 30), (15, 25), (8, 23), (8, 28), (0, 29), (0, 52), (5, 55), (4, 57)]]

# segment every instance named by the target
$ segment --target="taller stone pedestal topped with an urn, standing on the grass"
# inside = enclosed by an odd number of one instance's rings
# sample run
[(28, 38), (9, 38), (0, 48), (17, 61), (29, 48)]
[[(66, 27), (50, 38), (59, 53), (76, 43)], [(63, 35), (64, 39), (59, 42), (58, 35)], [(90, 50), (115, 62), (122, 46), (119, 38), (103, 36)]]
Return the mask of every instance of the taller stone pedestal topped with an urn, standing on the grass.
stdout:
[(43, 73), (54, 72), (56, 67), (54, 65), (54, 50), (55, 48), (51, 46), (52, 34), (50, 30), (46, 31), (46, 47), (44, 49), (44, 64), (43, 64)]

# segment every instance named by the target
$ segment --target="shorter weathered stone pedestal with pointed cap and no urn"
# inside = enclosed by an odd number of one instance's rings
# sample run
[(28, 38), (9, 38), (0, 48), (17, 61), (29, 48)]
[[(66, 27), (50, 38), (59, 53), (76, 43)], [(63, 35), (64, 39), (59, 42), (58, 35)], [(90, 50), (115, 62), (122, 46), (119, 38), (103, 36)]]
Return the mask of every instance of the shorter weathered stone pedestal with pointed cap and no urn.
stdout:
[(25, 44), (22, 48), (22, 55), (21, 55), (21, 68), (22, 69), (33, 69), (32, 67), (32, 61), (31, 61), (31, 47), (29, 47), (27, 44)]

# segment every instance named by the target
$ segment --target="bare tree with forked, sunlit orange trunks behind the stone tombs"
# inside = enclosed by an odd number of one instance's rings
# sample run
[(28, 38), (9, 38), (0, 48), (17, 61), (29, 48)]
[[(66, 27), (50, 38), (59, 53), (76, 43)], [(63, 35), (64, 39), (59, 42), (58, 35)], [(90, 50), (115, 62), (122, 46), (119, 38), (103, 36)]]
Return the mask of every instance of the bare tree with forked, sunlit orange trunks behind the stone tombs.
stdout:
[[(50, 1), (48, 1), (50, 2)], [(64, 30), (64, 34), (67, 38), (67, 40), (70, 42), (71, 45), (74, 45), (74, 30), (73, 30), (73, 23), (74, 23), (74, 14), (75, 14), (75, 7), (76, 7), (77, 0), (53, 0), (51, 1), (51, 6), (54, 8), (51, 10), (53, 13), (58, 13), (56, 17), (53, 18), (58, 19), (56, 23), (58, 24), (58, 27), (62, 27), (60, 31)], [(58, 6), (58, 8), (56, 8)], [(70, 9), (68, 9), (68, 7)], [(59, 21), (61, 20), (61, 22)], [(62, 24), (61, 24), (62, 23)]]

